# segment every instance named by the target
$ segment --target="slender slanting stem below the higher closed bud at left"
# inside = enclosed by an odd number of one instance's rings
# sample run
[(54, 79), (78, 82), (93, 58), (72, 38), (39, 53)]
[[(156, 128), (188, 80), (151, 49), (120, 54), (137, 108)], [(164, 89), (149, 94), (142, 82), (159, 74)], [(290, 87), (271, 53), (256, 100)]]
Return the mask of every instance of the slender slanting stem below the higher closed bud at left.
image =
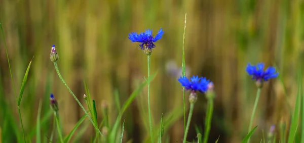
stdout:
[(57, 62), (54, 62), (54, 66), (56, 69), (56, 72), (59, 76), (59, 78), (61, 79), (61, 81), (63, 82), (63, 84), (65, 85), (65, 87), (69, 90), (69, 92), (72, 94), (73, 98), (75, 99), (75, 101), (77, 101), (77, 103), (79, 104), (79, 106), (81, 107), (81, 109), (85, 112), (85, 114), (87, 115), (87, 117), (89, 118), (89, 120), (91, 121), (92, 125), (95, 127), (95, 129), (99, 132), (99, 134), (101, 136), (103, 136), (103, 134), (100, 132), (100, 130), (98, 129), (98, 127), (94, 124), (93, 120), (91, 119), (91, 117), (89, 116), (88, 112), (85, 110), (85, 108), (82, 106), (82, 104), (80, 103), (80, 101), (77, 99), (77, 97), (75, 96), (75, 94), (72, 92), (72, 90), (67, 86), (67, 84), (65, 83), (65, 81), (63, 80), (59, 69), (58, 69), (58, 65)]

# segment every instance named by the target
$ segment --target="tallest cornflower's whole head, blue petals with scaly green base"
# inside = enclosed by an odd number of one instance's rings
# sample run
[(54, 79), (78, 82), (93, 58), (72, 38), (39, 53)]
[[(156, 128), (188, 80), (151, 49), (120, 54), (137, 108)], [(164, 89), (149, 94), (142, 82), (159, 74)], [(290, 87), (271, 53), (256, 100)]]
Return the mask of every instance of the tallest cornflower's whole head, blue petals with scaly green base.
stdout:
[(152, 34), (152, 30), (148, 29), (145, 32), (140, 32), (137, 34), (136, 32), (132, 32), (129, 34), (129, 39), (132, 42), (139, 42), (139, 47), (144, 51), (145, 54), (150, 55), (152, 53), (152, 49), (155, 48), (154, 42), (158, 41), (162, 38), (164, 34), (163, 28), (161, 28), (157, 35), (154, 37)]

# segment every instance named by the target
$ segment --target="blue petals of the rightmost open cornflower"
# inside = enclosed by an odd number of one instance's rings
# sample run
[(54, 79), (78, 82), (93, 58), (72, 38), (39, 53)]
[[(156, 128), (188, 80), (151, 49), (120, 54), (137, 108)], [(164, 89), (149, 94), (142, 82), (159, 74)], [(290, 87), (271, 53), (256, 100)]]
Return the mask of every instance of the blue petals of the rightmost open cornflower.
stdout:
[(279, 73), (276, 72), (276, 68), (268, 67), (265, 71), (263, 71), (265, 64), (259, 63), (257, 65), (248, 64), (246, 71), (249, 75), (252, 76), (252, 79), (256, 81), (268, 81), (271, 78), (278, 77)]

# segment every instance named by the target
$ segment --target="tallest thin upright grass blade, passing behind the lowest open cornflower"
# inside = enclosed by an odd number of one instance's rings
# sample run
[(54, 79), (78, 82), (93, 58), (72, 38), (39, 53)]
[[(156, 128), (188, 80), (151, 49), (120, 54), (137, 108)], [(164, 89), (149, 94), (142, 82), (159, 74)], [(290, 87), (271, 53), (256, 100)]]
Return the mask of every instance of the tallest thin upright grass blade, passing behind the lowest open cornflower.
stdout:
[[(185, 25), (184, 25), (184, 32), (182, 36), (182, 76), (186, 76), (186, 62), (185, 62), (185, 33), (186, 33), (186, 21), (187, 21), (187, 13), (185, 13)], [(182, 94), (183, 94), (183, 116), (184, 116), (184, 131), (186, 130), (186, 102), (185, 102), (185, 87), (182, 87)]]

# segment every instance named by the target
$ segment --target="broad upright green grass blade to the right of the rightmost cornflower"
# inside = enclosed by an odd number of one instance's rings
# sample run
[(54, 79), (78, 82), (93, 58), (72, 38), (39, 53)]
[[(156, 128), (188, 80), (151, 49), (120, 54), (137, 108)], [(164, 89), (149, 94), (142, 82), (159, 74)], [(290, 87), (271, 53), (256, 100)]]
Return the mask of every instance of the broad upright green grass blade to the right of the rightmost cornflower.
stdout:
[(302, 76), (301, 76), (300, 71), (299, 71), (298, 77), (299, 78), (298, 78), (297, 97), (296, 97), (296, 103), (295, 103), (292, 121), (291, 121), (291, 125), (290, 125), (289, 135), (288, 135), (288, 143), (292, 143), (294, 141), (296, 130), (298, 127), (298, 119), (300, 116), (301, 84), (302, 84)]

